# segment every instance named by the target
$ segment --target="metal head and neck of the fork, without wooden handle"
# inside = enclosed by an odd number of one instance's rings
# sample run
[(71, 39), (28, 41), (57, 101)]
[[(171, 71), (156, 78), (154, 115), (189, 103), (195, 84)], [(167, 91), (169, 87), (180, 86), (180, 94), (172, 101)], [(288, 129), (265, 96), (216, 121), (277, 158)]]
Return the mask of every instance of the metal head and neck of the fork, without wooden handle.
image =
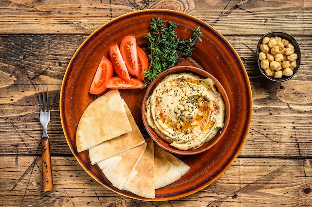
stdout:
[[(41, 86), (42, 86), (42, 102), (41, 102), (39, 86), (38, 86), (38, 94), (39, 94), (39, 104), (40, 104), (40, 123), (43, 128), (42, 138), (45, 138), (45, 137), (49, 138), (47, 130), (46, 130), (48, 123), (50, 122), (50, 105), (49, 105), (49, 96), (48, 96), (48, 85), (46, 85), (46, 99), (44, 98), (43, 84), (41, 84)], [(43, 103), (43, 108), (42, 108), (42, 103)]]

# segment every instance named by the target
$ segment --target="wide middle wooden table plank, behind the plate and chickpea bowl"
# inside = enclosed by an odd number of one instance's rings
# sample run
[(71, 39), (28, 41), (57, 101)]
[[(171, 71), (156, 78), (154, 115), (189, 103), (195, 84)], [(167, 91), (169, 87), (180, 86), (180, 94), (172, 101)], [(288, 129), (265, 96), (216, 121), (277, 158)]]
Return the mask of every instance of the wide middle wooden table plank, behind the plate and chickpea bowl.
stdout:
[[(66, 67), (86, 36), (0, 36), (0, 154), (40, 154), (41, 125), (36, 84), (48, 83), (52, 155), (71, 155), (59, 114)], [(258, 37), (226, 36), (248, 72), (253, 94), (250, 131), (240, 156), (311, 158), (312, 39), (297, 37), (302, 66), (287, 82), (270, 83), (256, 65)], [(282, 129), (282, 130), (281, 130)], [(281, 133), (277, 133), (281, 131)]]

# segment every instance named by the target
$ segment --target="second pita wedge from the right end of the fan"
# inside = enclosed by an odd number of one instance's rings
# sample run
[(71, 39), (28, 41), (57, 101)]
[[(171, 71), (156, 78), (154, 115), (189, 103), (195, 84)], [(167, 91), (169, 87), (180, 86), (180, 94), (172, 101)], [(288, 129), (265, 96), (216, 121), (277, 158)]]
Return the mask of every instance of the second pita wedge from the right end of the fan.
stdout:
[(166, 159), (164, 149), (154, 145), (154, 188), (162, 188), (181, 178), (181, 174)]

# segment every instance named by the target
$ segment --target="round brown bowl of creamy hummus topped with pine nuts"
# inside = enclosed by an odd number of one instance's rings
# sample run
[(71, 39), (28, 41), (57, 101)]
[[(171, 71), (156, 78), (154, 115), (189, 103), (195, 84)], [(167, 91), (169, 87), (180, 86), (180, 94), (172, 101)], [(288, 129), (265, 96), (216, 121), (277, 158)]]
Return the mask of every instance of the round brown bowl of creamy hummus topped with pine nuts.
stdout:
[[(170, 85), (170, 77), (173, 77), (174, 81), (182, 76), (192, 81), (198, 78), (199, 84), (187, 82), (186, 86)], [(213, 82), (209, 84), (206, 80)], [(168, 86), (162, 91), (160, 88), (163, 85)], [(191, 91), (186, 92), (188, 85), (191, 85)], [(212, 86), (214, 90), (207, 90), (208, 86)], [(194, 90), (193, 87), (199, 89)], [(211, 93), (207, 96), (203, 95), (205, 92)], [(151, 96), (155, 94), (157, 98)], [(183, 101), (185, 103), (182, 103)], [(205, 105), (206, 102), (211, 105), (202, 106), (202, 103)], [(180, 107), (183, 109), (179, 110)], [(187, 110), (184, 107), (187, 107)], [(154, 111), (157, 114), (154, 114)], [(207, 112), (211, 114), (208, 115)], [(229, 124), (230, 102), (221, 83), (207, 71), (193, 66), (175, 66), (160, 73), (149, 85), (143, 97), (141, 113), (145, 129), (156, 144), (174, 154), (194, 155), (209, 150), (224, 136)], [(166, 116), (166, 120), (162, 121), (162, 115)]]

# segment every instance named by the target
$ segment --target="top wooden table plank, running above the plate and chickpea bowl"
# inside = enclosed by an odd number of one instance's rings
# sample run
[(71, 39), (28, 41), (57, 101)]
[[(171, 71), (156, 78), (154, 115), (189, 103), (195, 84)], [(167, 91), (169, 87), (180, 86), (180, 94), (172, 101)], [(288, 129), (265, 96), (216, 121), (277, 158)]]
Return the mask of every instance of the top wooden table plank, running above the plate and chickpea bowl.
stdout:
[(154, 8), (190, 14), (224, 35), (262, 35), (279, 28), (294, 35), (312, 33), (309, 0), (2, 0), (0, 34), (90, 34), (120, 15)]

